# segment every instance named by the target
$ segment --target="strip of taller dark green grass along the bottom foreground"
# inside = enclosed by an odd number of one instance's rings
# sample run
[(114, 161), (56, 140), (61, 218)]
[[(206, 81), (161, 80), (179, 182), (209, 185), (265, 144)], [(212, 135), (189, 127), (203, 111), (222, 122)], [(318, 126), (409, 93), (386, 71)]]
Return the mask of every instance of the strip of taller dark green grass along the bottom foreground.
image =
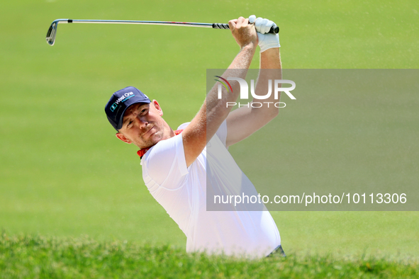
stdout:
[(0, 236), (0, 278), (419, 278), (417, 261), (332, 256), (244, 260), (88, 237)]

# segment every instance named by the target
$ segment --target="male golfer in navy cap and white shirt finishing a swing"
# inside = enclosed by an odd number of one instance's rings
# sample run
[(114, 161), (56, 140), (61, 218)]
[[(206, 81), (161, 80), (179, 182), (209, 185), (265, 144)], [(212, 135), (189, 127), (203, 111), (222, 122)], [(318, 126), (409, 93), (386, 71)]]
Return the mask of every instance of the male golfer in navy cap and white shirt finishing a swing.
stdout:
[[(268, 33), (274, 23), (250, 16), (228, 24), (240, 52), (221, 78), (245, 79), (259, 45), (255, 91), (266, 94), (269, 79), (281, 79), (279, 36)], [(239, 82), (230, 84), (232, 90), (223, 86), (218, 98), (217, 82), (194, 119), (177, 130), (162, 118), (160, 104), (134, 87), (113, 93), (105, 112), (117, 130), (116, 137), (140, 148), (145, 186), (186, 234), (187, 252), (250, 257), (276, 251), (283, 254), (279, 231), (264, 205), (258, 211), (234, 210), (234, 204), (233, 210), (206, 210), (207, 193), (236, 193), (240, 188), (257, 193), (227, 147), (249, 137), (278, 114), (275, 106), (243, 106), (230, 112), (231, 106), (225, 104), (237, 101), (240, 94)], [(271, 95), (264, 101), (278, 101)]]

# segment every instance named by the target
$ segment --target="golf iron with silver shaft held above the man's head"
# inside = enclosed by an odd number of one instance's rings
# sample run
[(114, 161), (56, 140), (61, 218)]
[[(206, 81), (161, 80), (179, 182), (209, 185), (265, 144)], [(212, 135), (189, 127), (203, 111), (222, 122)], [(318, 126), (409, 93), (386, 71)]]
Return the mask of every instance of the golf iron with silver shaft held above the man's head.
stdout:
[[(57, 35), (58, 23), (119, 23), (119, 24), (148, 24), (148, 25), (178, 25), (178, 26), (192, 26), (192, 27), (205, 27), (215, 29), (230, 29), (226, 23), (191, 23), (191, 22), (174, 22), (174, 21), (111, 21), (100, 19), (56, 19), (52, 21), (50, 29), (47, 33), (48, 45), (54, 45), (55, 36)], [(278, 26), (272, 26), (269, 33), (279, 33)]]

